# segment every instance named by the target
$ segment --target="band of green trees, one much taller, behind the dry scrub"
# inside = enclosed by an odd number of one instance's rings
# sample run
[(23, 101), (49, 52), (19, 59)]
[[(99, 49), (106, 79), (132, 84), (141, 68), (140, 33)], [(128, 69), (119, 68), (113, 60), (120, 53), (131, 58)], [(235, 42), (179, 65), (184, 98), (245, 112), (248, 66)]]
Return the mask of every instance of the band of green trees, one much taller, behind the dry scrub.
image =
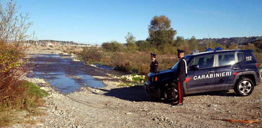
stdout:
[(132, 33), (128, 32), (125, 37), (126, 46), (113, 40), (103, 43), (102, 47), (107, 51), (150, 51), (157, 54), (176, 54), (177, 48), (185, 50), (186, 54), (190, 54), (194, 49), (202, 52), (209, 47), (212, 49), (221, 47), (224, 50), (252, 49), (257, 52), (262, 51), (262, 41), (248, 43), (247, 45), (238, 45), (236, 42), (223, 45), (211, 38), (200, 43), (194, 36), (190, 39), (185, 39), (183, 36), (175, 37), (177, 30), (174, 30), (170, 24), (171, 21), (168, 17), (164, 15), (154, 16), (150, 21), (150, 25), (148, 25), (149, 36), (146, 40), (136, 41)]

